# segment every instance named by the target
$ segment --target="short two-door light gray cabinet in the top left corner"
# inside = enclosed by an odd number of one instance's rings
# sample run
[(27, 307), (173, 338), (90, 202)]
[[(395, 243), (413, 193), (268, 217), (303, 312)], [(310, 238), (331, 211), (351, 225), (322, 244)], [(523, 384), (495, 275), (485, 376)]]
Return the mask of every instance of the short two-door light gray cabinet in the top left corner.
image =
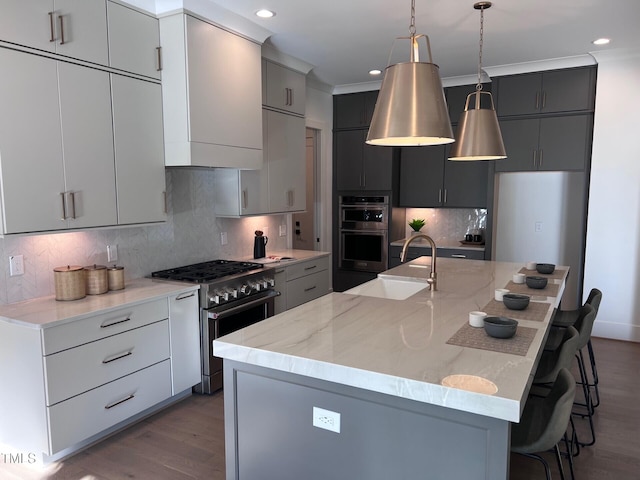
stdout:
[(104, 0), (3, 0), (0, 40), (109, 64)]

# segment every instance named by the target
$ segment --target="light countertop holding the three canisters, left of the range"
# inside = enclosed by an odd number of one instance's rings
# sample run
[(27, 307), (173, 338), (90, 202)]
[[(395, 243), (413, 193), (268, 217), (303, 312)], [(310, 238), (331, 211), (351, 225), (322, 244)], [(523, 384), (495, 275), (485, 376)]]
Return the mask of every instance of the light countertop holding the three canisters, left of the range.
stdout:
[(179, 295), (199, 285), (150, 278), (127, 281), (123, 290), (101, 295), (87, 295), (79, 300), (58, 301), (55, 295), (0, 306), (0, 321), (30, 328), (50, 328), (126, 305), (143, 303), (155, 298)]

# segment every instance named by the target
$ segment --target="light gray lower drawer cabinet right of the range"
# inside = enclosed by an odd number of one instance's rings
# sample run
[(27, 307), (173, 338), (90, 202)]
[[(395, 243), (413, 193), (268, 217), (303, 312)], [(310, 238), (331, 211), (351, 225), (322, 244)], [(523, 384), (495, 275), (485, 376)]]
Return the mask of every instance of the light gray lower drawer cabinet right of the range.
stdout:
[(282, 313), (329, 293), (329, 257), (276, 267), (275, 313)]

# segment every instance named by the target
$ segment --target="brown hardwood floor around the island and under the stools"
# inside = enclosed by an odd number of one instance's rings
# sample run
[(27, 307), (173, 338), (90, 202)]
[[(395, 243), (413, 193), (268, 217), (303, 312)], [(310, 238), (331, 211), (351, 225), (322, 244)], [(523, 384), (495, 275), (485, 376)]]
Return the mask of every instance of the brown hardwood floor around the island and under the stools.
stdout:
[[(640, 388), (636, 369), (640, 365), (640, 344), (598, 338), (593, 344), (601, 394), (595, 415), (597, 441), (575, 458), (576, 479), (638, 479)], [(0, 478), (224, 480), (222, 404), (222, 393), (194, 395), (44, 470), (6, 464), (0, 456)], [(586, 431), (586, 420), (575, 421), (579, 433)], [(559, 479), (553, 457), (547, 458), (553, 478)], [(568, 468), (565, 470), (568, 475)], [(510, 480), (544, 478), (539, 462), (512, 455)]]

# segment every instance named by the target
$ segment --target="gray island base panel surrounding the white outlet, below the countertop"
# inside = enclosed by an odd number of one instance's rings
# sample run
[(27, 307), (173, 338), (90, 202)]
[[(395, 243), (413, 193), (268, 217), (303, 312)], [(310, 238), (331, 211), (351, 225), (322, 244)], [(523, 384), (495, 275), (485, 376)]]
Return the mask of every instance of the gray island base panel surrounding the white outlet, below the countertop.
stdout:
[[(224, 362), (227, 479), (507, 479), (509, 422)], [(340, 414), (340, 433), (313, 409)]]

